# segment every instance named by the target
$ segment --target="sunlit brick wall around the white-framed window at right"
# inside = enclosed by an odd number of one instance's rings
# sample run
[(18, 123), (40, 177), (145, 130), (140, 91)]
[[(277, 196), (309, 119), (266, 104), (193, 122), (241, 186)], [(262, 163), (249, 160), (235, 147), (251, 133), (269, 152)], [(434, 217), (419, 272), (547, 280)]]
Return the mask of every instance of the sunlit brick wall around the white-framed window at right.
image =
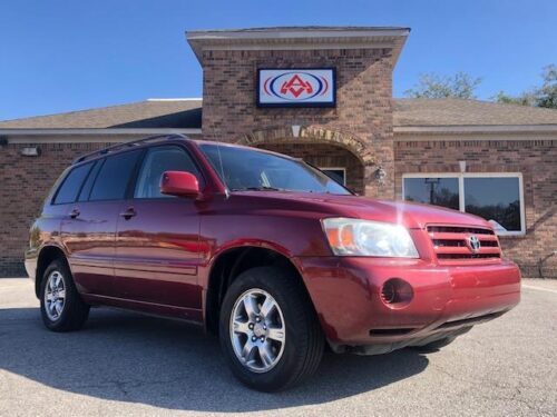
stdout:
[[(521, 172), (526, 236), (501, 237), (505, 255), (524, 276), (557, 277), (557, 140), (395, 141), (395, 193), (411, 172)], [(547, 258), (544, 262), (540, 259)]]

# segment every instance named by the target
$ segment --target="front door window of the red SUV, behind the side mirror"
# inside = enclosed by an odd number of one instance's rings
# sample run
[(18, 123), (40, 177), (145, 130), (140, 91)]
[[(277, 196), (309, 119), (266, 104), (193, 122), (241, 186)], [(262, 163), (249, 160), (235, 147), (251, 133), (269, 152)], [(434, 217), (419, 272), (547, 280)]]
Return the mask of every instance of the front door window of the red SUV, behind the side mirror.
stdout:
[(184, 149), (176, 146), (152, 148), (137, 177), (134, 198), (173, 198), (160, 193), (160, 178), (165, 171), (188, 171), (201, 179), (195, 162)]

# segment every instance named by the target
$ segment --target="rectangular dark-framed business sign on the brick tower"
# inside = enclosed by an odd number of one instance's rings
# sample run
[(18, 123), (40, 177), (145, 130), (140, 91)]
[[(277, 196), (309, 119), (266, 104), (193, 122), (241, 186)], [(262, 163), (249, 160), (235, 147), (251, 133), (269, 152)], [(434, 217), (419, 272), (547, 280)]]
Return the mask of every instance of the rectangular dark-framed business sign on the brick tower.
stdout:
[(260, 69), (258, 107), (334, 107), (333, 68)]

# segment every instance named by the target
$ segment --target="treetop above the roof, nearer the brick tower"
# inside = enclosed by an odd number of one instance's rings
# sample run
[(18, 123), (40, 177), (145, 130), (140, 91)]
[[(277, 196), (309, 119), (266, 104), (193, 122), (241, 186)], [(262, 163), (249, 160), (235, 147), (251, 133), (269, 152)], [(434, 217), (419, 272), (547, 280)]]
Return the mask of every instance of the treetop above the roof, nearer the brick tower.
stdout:
[(466, 72), (457, 72), (452, 77), (422, 73), (414, 88), (404, 91), (404, 95), (426, 99), (441, 99), (448, 97), (473, 99), (476, 98), (475, 90), (480, 82), (481, 78), (473, 78)]

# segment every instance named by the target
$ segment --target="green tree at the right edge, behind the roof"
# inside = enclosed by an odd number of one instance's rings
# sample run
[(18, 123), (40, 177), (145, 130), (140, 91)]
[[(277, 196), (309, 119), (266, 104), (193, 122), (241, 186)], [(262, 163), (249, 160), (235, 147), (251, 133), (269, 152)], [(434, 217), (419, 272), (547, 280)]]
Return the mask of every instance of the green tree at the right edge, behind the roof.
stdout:
[(557, 109), (557, 67), (555, 64), (545, 67), (541, 72), (541, 78), (543, 82), (540, 87), (536, 87), (515, 97), (504, 91), (499, 91), (494, 97), (494, 100), (507, 105)]

